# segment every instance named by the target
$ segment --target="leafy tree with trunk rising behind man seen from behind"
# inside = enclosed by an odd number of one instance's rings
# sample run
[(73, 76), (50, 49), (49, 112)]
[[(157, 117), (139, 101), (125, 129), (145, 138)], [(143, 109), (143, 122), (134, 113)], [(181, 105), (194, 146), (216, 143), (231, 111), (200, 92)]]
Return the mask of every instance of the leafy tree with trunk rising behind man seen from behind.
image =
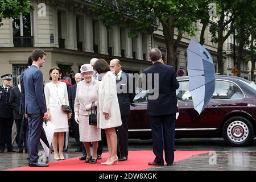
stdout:
[[(137, 32), (153, 31), (152, 24), (157, 18), (163, 26), (163, 34), (167, 48), (167, 64), (177, 68), (177, 47), (185, 32), (195, 34), (197, 1), (189, 0), (117, 0), (93, 3), (92, 11), (98, 18), (111, 27), (122, 22), (129, 28), (129, 36), (134, 37)], [(177, 30), (177, 36), (175, 36)]]

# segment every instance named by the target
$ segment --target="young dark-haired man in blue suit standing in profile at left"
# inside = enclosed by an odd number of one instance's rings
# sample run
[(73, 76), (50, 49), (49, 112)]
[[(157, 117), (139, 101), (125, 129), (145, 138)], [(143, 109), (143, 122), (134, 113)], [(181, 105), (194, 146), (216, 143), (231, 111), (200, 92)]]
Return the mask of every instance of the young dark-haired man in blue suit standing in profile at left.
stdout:
[(46, 101), (44, 100), (43, 67), (46, 53), (40, 49), (32, 52), (33, 64), (23, 76), (25, 104), (24, 109), (28, 117), (28, 166), (47, 167), (48, 164), (38, 163), (38, 145), (42, 133), (43, 121), (48, 118)]

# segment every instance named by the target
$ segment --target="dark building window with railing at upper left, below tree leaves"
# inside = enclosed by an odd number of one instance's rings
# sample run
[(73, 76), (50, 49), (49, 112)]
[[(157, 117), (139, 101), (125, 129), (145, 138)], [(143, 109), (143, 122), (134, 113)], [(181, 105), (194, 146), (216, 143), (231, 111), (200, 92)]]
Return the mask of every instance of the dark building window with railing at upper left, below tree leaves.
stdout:
[(13, 43), (14, 47), (33, 47), (31, 13), (13, 19)]

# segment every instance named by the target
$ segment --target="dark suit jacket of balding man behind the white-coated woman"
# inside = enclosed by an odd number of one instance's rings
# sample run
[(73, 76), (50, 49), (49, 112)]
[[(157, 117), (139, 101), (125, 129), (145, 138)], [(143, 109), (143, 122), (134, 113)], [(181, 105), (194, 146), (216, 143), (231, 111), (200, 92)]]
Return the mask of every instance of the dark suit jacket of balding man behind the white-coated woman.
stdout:
[[(131, 114), (130, 104), (133, 103), (133, 99), (135, 97), (135, 85), (129, 85), (129, 77), (132, 76), (122, 71), (120, 80), (117, 80), (117, 89), (120, 88), (122, 90), (123, 86), (127, 86), (126, 93), (117, 94), (121, 116), (127, 116)], [(129, 93), (129, 86), (133, 86), (133, 93)]]

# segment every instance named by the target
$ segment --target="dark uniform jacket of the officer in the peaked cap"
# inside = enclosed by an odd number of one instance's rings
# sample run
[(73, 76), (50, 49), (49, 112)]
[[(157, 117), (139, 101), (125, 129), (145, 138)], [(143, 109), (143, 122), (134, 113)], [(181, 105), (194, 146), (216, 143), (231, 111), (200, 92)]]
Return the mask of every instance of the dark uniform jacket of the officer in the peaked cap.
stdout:
[(0, 118), (13, 118), (13, 109), (9, 104), (11, 88), (5, 92), (3, 86), (0, 86)]

